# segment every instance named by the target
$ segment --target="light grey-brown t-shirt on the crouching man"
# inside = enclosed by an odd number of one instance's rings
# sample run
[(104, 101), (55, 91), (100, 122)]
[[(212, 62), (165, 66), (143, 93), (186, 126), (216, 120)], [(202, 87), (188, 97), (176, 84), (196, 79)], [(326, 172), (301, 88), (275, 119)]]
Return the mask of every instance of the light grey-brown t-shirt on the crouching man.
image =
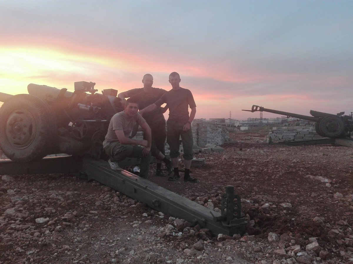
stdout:
[(124, 131), (125, 137), (129, 137), (132, 131), (133, 126), (138, 123), (142, 125), (145, 121), (143, 117), (137, 113), (136, 117), (130, 117), (125, 113), (125, 111), (121, 111), (113, 115), (112, 119), (110, 119), (108, 132), (106, 135), (106, 139), (103, 141), (103, 147), (109, 145), (112, 142), (119, 142), (118, 137), (115, 134), (115, 130)]

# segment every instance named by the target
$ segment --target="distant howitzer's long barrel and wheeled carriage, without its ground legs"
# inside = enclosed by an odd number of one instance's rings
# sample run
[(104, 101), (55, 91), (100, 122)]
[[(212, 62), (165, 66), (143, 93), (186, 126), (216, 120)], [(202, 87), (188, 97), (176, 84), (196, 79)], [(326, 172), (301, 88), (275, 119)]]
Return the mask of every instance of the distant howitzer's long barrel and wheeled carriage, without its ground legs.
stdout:
[(351, 137), (353, 131), (353, 119), (352, 115), (344, 115), (345, 112), (338, 114), (329, 114), (318, 111), (310, 110), (309, 115), (294, 114), (289, 112), (283, 112), (273, 109), (264, 108), (262, 106), (253, 105), (251, 110), (243, 110), (249, 112), (269, 112), (274, 114), (285, 115), (286, 118), (294, 117), (299, 119), (304, 119), (308, 121), (313, 121), (315, 123), (315, 130), (322, 137), (328, 138), (341, 138), (341, 137)]

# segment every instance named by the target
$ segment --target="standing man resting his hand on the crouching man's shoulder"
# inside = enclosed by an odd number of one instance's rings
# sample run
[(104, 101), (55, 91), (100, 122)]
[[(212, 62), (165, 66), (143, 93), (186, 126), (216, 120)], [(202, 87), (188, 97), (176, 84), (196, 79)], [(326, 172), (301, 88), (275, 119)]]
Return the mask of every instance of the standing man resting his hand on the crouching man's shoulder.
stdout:
[[(184, 165), (185, 165), (185, 182), (197, 182), (195, 178), (190, 177), (190, 166), (193, 159), (192, 146), (193, 138), (190, 129), (191, 122), (195, 118), (196, 104), (192, 93), (188, 89), (180, 87), (180, 75), (175, 71), (169, 75), (169, 83), (172, 89), (164, 93), (161, 98), (148, 107), (140, 110), (140, 113), (145, 114), (158, 109), (163, 103), (167, 103), (169, 107), (169, 118), (167, 121), (167, 142), (170, 147), (170, 157), (172, 158), (174, 174), (169, 177), (169, 181), (179, 180), (179, 137), (183, 142), (184, 148)], [(191, 108), (189, 117), (189, 106)]]

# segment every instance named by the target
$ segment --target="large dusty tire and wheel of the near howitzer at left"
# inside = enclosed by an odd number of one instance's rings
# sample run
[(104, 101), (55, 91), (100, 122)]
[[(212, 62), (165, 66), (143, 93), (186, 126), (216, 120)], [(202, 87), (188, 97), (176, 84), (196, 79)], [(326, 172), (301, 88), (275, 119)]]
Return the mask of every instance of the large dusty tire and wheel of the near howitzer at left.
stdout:
[(30, 94), (14, 95), (0, 108), (0, 149), (15, 162), (37, 161), (50, 152), (55, 127), (46, 102)]

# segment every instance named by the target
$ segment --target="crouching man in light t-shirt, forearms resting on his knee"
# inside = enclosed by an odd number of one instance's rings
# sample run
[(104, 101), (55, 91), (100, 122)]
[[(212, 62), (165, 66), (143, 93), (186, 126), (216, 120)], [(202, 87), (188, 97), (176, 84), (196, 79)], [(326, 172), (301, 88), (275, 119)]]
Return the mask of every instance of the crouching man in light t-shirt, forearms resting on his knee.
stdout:
[[(144, 130), (146, 139), (129, 138), (136, 123)], [(118, 161), (125, 158), (141, 158), (139, 176), (147, 178), (151, 161), (151, 141), (151, 129), (145, 119), (138, 113), (137, 100), (129, 98), (126, 101), (124, 111), (113, 115), (106, 139), (103, 141), (104, 152), (109, 156), (110, 168), (121, 170)]]

